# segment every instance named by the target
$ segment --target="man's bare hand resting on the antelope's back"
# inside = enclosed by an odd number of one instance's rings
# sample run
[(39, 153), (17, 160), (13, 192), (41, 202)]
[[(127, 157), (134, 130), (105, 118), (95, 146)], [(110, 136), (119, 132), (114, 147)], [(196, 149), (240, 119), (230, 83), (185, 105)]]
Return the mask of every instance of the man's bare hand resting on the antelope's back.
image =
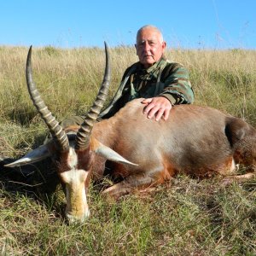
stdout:
[(147, 115), (148, 119), (154, 117), (156, 121), (159, 121), (160, 119), (168, 119), (172, 104), (165, 97), (158, 96), (144, 99), (142, 103), (146, 104), (143, 113)]

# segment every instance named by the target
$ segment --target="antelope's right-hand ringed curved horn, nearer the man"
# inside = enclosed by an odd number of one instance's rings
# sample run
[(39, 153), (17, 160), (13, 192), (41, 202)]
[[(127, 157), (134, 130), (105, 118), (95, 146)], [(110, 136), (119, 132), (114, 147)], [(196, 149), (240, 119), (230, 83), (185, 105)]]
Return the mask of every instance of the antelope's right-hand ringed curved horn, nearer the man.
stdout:
[(76, 149), (84, 149), (88, 147), (90, 142), (90, 132), (108, 96), (108, 87), (110, 83), (110, 66), (108, 56), (108, 45), (106, 44), (106, 42), (104, 42), (104, 44), (106, 53), (106, 67), (104, 78), (102, 81), (102, 86), (98, 92), (98, 95), (96, 96), (96, 100), (93, 103), (93, 106), (90, 108), (90, 111), (86, 114), (84, 123), (79, 128), (76, 137)]

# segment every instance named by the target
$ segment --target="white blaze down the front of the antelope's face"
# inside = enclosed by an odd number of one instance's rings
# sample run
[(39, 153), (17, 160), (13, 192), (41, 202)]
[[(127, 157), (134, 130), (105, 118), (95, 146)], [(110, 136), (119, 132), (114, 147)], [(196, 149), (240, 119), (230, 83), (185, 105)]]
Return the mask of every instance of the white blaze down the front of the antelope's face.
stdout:
[(67, 161), (70, 170), (60, 173), (62, 181), (66, 184), (66, 215), (70, 222), (83, 222), (90, 215), (84, 186), (88, 172), (75, 168), (78, 158), (73, 148), (69, 149)]

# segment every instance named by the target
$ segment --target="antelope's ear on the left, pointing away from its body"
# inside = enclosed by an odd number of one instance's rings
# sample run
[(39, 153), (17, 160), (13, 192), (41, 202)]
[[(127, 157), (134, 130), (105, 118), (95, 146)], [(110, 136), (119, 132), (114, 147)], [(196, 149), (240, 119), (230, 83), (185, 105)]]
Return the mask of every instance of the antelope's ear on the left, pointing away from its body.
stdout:
[(28, 154), (26, 154), (19, 160), (16, 160), (15, 162), (10, 163), (5, 166), (6, 167), (25, 166), (27, 164), (32, 164), (32, 163), (38, 162), (40, 160), (44, 160), (45, 158), (47, 158), (49, 156), (50, 156), (50, 153), (48, 151), (47, 145), (42, 145), (42, 146), (32, 150), (31, 152), (29, 152)]

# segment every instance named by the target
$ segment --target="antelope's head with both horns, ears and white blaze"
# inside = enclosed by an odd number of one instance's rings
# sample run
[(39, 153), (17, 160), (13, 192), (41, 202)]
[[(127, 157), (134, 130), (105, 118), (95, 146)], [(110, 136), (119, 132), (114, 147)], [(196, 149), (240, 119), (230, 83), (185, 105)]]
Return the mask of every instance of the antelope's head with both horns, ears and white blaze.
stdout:
[(99, 154), (108, 160), (132, 164), (114, 152), (111, 148), (102, 145), (102, 143), (98, 142), (95, 138), (91, 139), (90, 137), (93, 125), (95, 124), (98, 114), (108, 95), (110, 67), (108, 46), (106, 43), (105, 53), (105, 74), (96, 100), (79, 129), (67, 133), (44, 104), (36, 84), (32, 80), (32, 46), (27, 55), (27, 89), (34, 106), (38, 109), (38, 113), (40, 113), (42, 119), (44, 119), (45, 124), (49, 128), (52, 140), (49, 143), (32, 150), (32, 152), (26, 154), (20, 160), (16, 160), (7, 166), (23, 166), (51, 157), (55, 161), (56, 171), (58, 172), (61, 182), (65, 183), (66, 186), (66, 216), (70, 222), (83, 222), (84, 219), (90, 215), (86, 199), (86, 190), (90, 183), (90, 173), (92, 166), (95, 163), (96, 154)]

